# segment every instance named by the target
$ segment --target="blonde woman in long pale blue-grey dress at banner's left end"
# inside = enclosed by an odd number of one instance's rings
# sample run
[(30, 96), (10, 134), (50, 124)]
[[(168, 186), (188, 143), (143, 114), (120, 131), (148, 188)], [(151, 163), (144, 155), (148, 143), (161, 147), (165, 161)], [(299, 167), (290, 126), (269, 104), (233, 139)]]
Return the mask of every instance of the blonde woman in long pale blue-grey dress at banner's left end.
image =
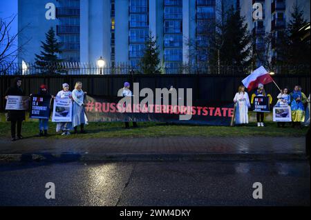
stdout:
[(73, 128), (77, 134), (77, 126), (80, 126), (81, 133), (86, 134), (84, 125), (87, 124), (87, 118), (84, 111), (84, 92), (82, 90), (82, 82), (75, 83), (75, 90), (72, 92), (73, 96)]

